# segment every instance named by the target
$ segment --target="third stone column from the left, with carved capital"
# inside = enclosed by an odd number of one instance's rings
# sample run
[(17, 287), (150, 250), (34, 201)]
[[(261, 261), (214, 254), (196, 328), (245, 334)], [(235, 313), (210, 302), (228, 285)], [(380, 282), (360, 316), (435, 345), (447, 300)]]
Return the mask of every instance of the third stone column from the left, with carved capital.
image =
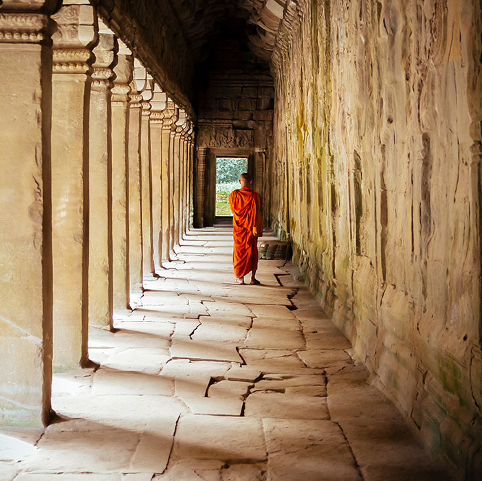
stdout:
[(111, 67), (116, 51), (113, 34), (99, 33), (89, 114), (89, 323), (94, 326), (111, 326), (113, 313)]

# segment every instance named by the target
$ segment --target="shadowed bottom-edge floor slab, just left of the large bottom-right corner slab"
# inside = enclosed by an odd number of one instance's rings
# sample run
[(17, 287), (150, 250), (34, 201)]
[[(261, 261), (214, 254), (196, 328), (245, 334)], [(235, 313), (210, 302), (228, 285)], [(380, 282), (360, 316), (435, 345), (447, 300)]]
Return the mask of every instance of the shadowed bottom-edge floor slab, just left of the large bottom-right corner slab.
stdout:
[(263, 428), (268, 481), (363, 481), (335, 423), (264, 418)]

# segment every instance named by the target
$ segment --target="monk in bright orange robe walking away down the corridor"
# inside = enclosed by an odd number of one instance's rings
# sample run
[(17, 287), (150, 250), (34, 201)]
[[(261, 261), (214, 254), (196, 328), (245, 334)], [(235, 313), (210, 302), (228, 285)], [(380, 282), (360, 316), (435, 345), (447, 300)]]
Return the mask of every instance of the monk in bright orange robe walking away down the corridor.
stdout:
[(233, 215), (232, 236), (234, 251), (232, 263), (237, 284), (244, 284), (244, 276), (251, 273), (250, 284), (259, 284), (256, 279), (258, 269), (258, 237), (263, 234), (263, 198), (252, 190), (252, 177), (247, 172), (239, 176), (241, 189), (229, 196)]

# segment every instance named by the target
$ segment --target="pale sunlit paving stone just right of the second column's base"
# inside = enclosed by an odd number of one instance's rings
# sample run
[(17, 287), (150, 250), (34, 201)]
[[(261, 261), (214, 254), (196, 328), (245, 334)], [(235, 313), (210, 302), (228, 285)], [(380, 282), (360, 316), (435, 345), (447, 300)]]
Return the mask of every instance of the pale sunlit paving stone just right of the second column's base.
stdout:
[(108, 394), (171, 396), (173, 388), (173, 381), (160, 375), (100, 368), (94, 374), (92, 394), (96, 396)]

